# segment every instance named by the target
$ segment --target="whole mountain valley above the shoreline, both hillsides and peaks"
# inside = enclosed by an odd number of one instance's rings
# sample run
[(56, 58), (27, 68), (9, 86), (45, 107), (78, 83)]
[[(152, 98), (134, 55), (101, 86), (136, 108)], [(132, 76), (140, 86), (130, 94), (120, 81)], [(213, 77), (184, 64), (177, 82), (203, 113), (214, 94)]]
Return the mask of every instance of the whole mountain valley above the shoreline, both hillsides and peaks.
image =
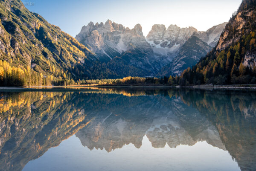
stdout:
[[(254, 83), (254, 8), (254, 0), (243, 0), (228, 23), (205, 32), (154, 24), (145, 36), (140, 24), (129, 29), (107, 20), (88, 23), (73, 38), (20, 0), (3, 0), (0, 86), (74, 85), (128, 76), (165, 76), (167, 84), (170, 75), (177, 76), (175, 85)], [(195, 77), (187, 78), (188, 71)]]

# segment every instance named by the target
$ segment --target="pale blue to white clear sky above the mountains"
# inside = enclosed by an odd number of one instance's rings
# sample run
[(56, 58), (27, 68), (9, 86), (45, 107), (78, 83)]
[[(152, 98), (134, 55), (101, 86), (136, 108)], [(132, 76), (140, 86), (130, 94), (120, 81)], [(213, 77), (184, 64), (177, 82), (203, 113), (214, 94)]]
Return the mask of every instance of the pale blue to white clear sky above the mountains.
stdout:
[(199, 31), (228, 21), (241, 0), (22, 0), (30, 11), (76, 36), (90, 21), (110, 19), (125, 27), (140, 23), (146, 36), (154, 24), (193, 26)]

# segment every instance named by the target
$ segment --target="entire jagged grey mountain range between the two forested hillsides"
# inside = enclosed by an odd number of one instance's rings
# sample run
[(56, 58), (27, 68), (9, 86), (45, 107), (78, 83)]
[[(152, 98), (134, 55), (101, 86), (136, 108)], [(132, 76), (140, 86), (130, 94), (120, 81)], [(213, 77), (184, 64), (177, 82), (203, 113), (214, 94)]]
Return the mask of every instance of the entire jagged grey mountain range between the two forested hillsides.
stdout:
[[(107, 20), (105, 24), (101, 22), (94, 25), (90, 22), (87, 26), (83, 26), (76, 39), (90, 47), (97, 58), (106, 62), (117, 75), (162, 76), (159, 70), (172, 64), (172, 60), (177, 57), (184, 43), (192, 35), (196, 35), (209, 46), (215, 46), (225, 24), (213, 26), (206, 32), (198, 32), (193, 27), (180, 28), (176, 25), (170, 25), (166, 29), (164, 25), (156, 24), (145, 38), (140, 24), (134, 29), (129, 29), (122, 24)], [(194, 54), (191, 57), (193, 56)], [(132, 72), (120, 72), (115, 65), (116, 62), (119, 64), (121, 62), (124, 68), (133, 68)]]

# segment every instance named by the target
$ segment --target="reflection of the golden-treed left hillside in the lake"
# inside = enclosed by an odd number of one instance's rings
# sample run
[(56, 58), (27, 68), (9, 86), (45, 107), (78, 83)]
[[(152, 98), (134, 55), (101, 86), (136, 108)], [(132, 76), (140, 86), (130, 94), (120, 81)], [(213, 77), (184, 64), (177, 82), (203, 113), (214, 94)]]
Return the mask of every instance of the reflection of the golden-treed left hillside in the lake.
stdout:
[[(87, 115), (82, 106), (77, 107), (71, 102), (73, 93), (0, 94), (0, 97), (3, 97), (0, 103), (0, 125), (2, 125), (0, 129), (2, 154), (0, 155), (4, 155), (6, 161), (10, 162), (19, 160), (18, 156), (22, 155), (22, 159), (28, 162), (38, 158), (49, 148), (58, 146), (61, 141), (83, 128)], [(14, 129), (11, 131), (11, 128)], [(15, 142), (12, 142), (14, 144), (12, 151), (4, 148), (9, 139), (15, 139)], [(25, 149), (23, 154), (19, 151), (21, 146)], [(17, 162), (16, 164), (25, 165), (26, 163)], [(0, 165), (5, 163), (0, 161)]]

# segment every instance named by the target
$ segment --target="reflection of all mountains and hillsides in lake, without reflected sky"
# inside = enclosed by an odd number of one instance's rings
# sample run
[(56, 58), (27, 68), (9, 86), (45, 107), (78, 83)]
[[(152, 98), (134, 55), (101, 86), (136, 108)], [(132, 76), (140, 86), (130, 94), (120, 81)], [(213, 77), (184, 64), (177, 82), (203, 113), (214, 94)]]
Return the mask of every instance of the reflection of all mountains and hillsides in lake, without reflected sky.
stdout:
[(253, 171), (255, 95), (248, 90), (160, 88), (2, 92), (0, 171), (21, 171), (74, 134), (83, 146), (109, 155), (129, 144), (143, 149), (145, 139), (158, 151), (207, 142), (228, 151), (242, 171)]

